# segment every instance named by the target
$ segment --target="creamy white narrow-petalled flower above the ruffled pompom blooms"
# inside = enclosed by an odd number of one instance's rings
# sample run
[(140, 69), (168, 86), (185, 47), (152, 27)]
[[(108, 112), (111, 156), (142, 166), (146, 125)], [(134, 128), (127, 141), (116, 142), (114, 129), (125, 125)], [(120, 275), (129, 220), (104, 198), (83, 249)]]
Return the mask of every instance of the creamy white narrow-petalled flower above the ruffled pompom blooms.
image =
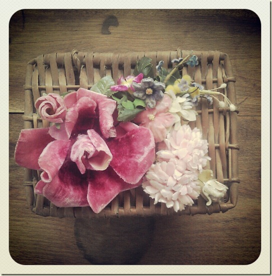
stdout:
[(197, 112), (192, 109), (193, 105), (189, 94), (186, 93), (182, 96), (176, 96), (175, 93), (170, 90), (166, 92), (172, 98), (172, 105), (168, 112), (175, 116), (175, 129), (178, 129), (181, 125), (181, 118), (188, 121), (195, 121)]

